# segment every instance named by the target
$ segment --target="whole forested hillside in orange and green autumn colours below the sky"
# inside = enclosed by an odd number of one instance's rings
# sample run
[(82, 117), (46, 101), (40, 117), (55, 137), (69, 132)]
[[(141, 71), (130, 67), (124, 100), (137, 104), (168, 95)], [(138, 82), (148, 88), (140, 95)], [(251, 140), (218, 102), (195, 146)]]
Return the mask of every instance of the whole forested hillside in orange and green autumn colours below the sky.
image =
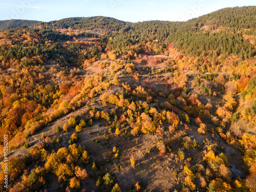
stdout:
[(255, 191), (255, 10), (0, 22), (0, 190)]

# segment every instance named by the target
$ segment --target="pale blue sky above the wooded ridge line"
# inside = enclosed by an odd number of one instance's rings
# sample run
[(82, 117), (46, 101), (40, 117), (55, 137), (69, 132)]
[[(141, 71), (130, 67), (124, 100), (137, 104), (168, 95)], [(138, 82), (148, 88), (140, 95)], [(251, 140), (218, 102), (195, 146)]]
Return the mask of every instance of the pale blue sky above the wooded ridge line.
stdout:
[(68, 17), (109, 16), (125, 22), (186, 21), (226, 7), (256, 6), (255, 0), (1, 0), (0, 20), (49, 22)]

